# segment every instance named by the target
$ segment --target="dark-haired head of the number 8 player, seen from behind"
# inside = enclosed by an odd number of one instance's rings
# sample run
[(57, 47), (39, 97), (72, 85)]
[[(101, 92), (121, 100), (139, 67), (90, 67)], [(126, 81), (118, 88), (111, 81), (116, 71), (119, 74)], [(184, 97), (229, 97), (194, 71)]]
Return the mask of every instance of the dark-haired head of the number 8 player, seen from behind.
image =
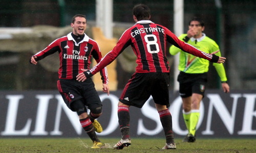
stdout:
[(133, 8), (133, 15), (136, 16), (137, 20), (148, 20), (150, 19), (150, 8), (144, 4), (138, 4)]

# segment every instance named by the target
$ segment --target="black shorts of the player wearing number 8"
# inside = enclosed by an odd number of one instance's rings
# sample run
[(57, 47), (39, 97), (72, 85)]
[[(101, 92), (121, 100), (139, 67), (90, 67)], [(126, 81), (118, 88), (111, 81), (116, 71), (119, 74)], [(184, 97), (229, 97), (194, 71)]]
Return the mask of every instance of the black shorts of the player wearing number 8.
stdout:
[(154, 102), (169, 107), (169, 73), (134, 73), (125, 85), (119, 100), (142, 108), (152, 95)]

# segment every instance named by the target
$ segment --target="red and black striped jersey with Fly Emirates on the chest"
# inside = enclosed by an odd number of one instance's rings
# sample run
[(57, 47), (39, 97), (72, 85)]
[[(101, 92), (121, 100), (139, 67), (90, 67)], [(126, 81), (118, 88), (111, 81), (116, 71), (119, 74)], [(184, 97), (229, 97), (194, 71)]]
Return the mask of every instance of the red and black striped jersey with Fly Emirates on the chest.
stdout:
[[(83, 40), (76, 43), (71, 33), (69, 33), (67, 36), (54, 40), (34, 56), (37, 57), (37, 60), (41, 60), (55, 52), (59, 53), (59, 79), (76, 80), (76, 75), (83, 72), (81, 69), (90, 69), (92, 57), (97, 63), (102, 59), (98, 44), (86, 34), (84, 34)], [(102, 83), (108, 84), (106, 68), (102, 68), (100, 74)]]

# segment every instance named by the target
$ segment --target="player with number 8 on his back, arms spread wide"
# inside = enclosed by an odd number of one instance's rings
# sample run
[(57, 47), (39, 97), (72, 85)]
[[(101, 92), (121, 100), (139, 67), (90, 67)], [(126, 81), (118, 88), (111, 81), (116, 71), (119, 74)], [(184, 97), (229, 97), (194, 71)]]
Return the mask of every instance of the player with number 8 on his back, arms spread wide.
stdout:
[(179, 40), (162, 25), (150, 21), (150, 9), (145, 5), (136, 5), (133, 9), (136, 24), (127, 29), (116, 46), (91, 70), (84, 70), (77, 75), (78, 81), (85, 81), (93, 74), (110, 64), (123, 50), (131, 45), (137, 56), (136, 72), (125, 85), (119, 98), (118, 118), (122, 139), (114, 146), (122, 149), (131, 145), (130, 106), (142, 108), (146, 100), (153, 97), (156, 109), (164, 129), (166, 144), (163, 149), (175, 149), (172, 115), (169, 110), (169, 66), (166, 58), (166, 43), (169, 42), (184, 52), (211, 62), (223, 63), (225, 58), (206, 54), (197, 48)]

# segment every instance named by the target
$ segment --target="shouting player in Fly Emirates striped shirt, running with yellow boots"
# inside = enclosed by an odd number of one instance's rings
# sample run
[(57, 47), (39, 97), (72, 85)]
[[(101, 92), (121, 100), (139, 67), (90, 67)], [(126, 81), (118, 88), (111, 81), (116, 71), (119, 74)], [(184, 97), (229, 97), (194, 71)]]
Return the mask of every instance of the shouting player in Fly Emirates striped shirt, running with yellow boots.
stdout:
[[(76, 80), (76, 75), (83, 72), (81, 69), (90, 67), (92, 57), (97, 63), (102, 58), (98, 44), (84, 34), (86, 25), (86, 16), (75, 15), (71, 23), (73, 32), (53, 41), (44, 50), (32, 56), (30, 62), (37, 64), (37, 61), (55, 52), (59, 53), (60, 67), (58, 71), (59, 80), (57, 82), (59, 93), (69, 109), (77, 112), (83, 129), (93, 141), (92, 148), (99, 148), (102, 143), (95, 131), (102, 132), (102, 127), (95, 119), (102, 113), (101, 100), (94, 88), (92, 79), (86, 82), (78, 82)], [(109, 94), (106, 68), (101, 69), (100, 74), (103, 92)], [(86, 106), (90, 109), (89, 115)]]

